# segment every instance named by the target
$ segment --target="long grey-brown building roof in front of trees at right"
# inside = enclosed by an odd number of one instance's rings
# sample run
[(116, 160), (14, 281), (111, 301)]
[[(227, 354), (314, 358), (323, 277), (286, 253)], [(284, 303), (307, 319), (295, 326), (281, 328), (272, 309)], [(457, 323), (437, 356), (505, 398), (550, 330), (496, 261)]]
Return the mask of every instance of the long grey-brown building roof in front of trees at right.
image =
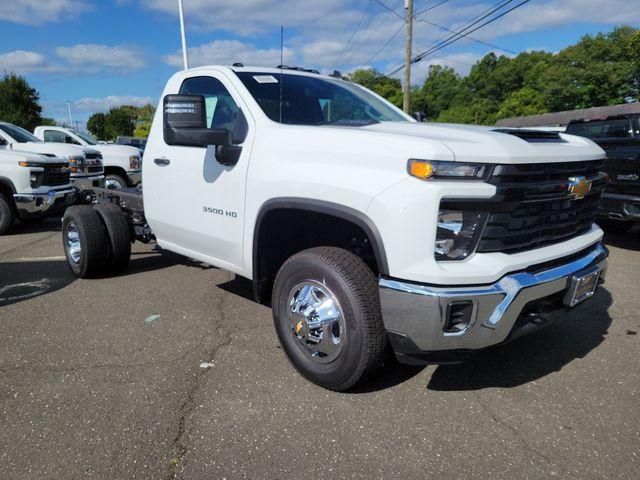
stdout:
[(640, 113), (640, 102), (623, 103), (606, 107), (582, 108), (567, 110), (566, 112), (543, 113), (528, 117), (503, 118), (496, 122), (500, 127), (541, 127), (568, 125), (571, 120), (606, 118), (614, 115), (628, 115)]

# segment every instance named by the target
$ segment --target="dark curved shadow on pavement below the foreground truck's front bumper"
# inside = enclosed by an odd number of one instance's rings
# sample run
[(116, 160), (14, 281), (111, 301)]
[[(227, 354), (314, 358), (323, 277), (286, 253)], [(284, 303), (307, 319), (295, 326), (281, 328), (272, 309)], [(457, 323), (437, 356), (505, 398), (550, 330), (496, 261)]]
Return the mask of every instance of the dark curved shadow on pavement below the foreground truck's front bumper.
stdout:
[(439, 391), (509, 388), (560, 371), (600, 345), (611, 325), (611, 294), (600, 288), (581, 309), (567, 312), (539, 332), (490, 348), (459, 365), (441, 365), (427, 388)]

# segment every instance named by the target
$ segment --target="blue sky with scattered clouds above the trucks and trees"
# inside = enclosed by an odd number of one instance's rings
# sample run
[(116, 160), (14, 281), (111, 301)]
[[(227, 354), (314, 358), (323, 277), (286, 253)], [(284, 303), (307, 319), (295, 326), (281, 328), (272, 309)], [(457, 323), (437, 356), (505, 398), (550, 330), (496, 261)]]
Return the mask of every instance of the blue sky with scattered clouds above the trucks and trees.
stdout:
[[(414, 1), (419, 12), (441, 0)], [(383, 3), (403, 13), (403, 0)], [(423, 18), (455, 29), (496, 3), (449, 0)], [(236, 61), (275, 66), (280, 25), (287, 64), (343, 72), (373, 66), (387, 72), (403, 59), (403, 21), (373, 0), (184, 0), (184, 5), (192, 66)], [(466, 74), (490, 51), (555, 52), (584, 34), (620, 24), (640, 24), (640, 1), (531, 0), (472, 34), (507, 51), (465, 39), (416, 64), (412, 82), (421, 83), (433, 63)], [(417, 53), (446, 32), (419, 21), (414, 35)], [(181, 61), (177, 0), (0, 0), (0, 72), (24, 75), (40, 92), (45, 115), (57, 120), (67, 118), (67, 99), (80, 122), (110, 106), (155, 104)]]

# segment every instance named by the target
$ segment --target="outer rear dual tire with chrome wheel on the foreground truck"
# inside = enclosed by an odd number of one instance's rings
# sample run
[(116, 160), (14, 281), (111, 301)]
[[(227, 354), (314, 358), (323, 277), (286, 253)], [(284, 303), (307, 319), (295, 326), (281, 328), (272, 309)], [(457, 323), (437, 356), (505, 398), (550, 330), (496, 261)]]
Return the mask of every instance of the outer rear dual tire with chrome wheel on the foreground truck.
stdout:
[(67, 265), (79, 278), (105, 271), (109, 255), (107, 231), (100, 216), (89, 205), (74, 205), (62, 217), (62, 241)]

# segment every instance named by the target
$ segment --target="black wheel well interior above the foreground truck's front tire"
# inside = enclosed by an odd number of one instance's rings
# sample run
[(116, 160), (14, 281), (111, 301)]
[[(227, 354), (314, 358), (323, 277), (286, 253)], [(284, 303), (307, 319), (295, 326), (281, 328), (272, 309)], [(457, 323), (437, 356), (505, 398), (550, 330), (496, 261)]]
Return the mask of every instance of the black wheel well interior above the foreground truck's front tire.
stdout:
[(273, 282), (287, 258), (312, 247), (329, 246), (360, 257), (375, 275), (387, 273), (377, 232), (344, 211), (274, 207), (259, 215), (254, 235), (253, 285), (260, 303), (271, 301)]

